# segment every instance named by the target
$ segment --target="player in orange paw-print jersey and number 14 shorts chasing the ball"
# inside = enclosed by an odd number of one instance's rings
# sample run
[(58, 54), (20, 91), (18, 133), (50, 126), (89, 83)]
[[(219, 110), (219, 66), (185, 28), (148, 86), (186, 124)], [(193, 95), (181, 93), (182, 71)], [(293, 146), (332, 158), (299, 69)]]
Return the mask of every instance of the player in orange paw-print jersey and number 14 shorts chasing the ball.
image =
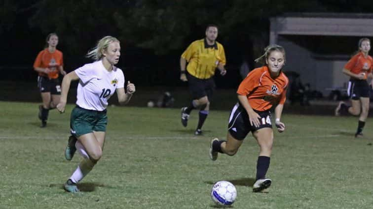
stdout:
[(273, 144), (273, 130), (270, 108), (275, 106), (276, 127), (285, 130), (280, 121), (286, 100), (289, 80), (281, 71), (285, 64), (285, 50), (278, 45), (265, 48), (265, 53), (255, 61), (264, 61), (264, 66), (252, 70), (238, 87), (238, 103), (233, 107), (228, 124), (227, 140), (217, 138), (211, 141), (210, 158), (216, 160), (218, 152), (234, 155), (247, 134), (251, 131), (261, 150), (257, 163), (257, 177), (254, 192), (260, 192), (271, 185), (265, 177), (269, 168)]

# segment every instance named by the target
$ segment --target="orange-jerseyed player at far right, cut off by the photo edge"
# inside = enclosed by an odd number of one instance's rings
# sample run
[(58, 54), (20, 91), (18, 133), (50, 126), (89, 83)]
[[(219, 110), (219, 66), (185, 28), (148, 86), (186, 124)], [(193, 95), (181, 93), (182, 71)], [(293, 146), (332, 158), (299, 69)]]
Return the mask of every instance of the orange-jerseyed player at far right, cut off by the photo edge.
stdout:
[(347, 94), (352, 106), (347, 106), (343, 101), (336, 107), (336, 116), (341, 112), (359, 116), (358, 128), (355, 137), (363, 137), (363, 128), (369, 112), (370, 87), (367, 78), (372, 78), (373, 59), (368, 55), (371, 50), (371, 41), (368, 38), (359, 40), (359, 52), (344, 66), (342, 72), (350, 76)]

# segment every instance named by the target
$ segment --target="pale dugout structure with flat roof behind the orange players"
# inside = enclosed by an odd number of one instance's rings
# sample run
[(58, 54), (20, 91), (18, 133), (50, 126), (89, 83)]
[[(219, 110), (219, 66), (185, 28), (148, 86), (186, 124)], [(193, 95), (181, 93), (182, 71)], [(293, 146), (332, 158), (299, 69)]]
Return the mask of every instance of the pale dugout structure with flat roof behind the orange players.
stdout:
[(342, 68), (362, 37), (373, 42), (373, 13), (289, 13), (270, 19), (269, 42), (285, 48), (285, 71), (298, 72), (302, 83), (325, 96), (346, 88), (349, 78)]

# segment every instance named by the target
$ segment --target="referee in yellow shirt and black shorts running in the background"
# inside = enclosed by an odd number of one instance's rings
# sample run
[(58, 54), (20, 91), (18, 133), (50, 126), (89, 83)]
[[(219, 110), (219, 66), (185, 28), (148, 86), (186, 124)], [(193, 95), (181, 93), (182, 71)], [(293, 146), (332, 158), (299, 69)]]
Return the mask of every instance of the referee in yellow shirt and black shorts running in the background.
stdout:
[[(198, 126), (194, 135), (202, 135), (202, 125), (210, 108), (210, 101), (215, 89), (213, 76), (216, 68), (225, 75), (225, 53), (223, 45), (216, 41), (218, 27), (208, 25), (206, 37), (192, 42), (180, 58), (180, 80), (187, 81), (192, 101), (182, 108), (181, 121), (186, 127), (189, 114), (193, 109), (199, 109)], [(186, 65), (188, 62), (188, 65)]]

